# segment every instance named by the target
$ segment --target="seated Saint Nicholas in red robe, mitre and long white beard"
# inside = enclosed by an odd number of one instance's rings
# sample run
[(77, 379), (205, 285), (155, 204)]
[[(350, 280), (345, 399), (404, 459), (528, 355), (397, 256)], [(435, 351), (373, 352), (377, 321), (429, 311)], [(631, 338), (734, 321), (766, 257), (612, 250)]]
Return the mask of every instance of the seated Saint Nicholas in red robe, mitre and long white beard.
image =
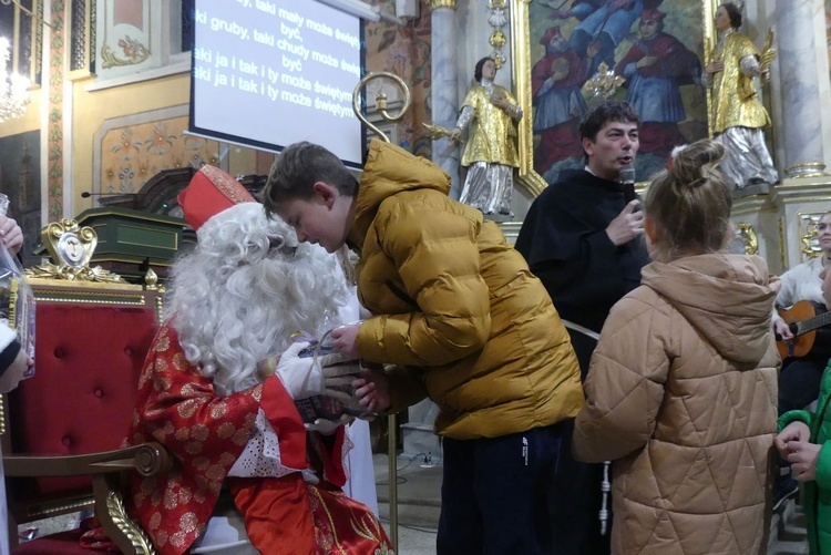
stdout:
[(376, 516), (341, 491), (343, 422), (309, 426), (296, 408), (326, 392), (328, 368), (342, 368), (338, 354), (304, 357), (308, 343), (291, 339), (340, 323), (349, 294), (337, 259), (298, 244), (215, 167), (194, 176), (179, 204), (198, 246), (172, 269), (127, 438), (162, 443), (175, 463), (162, 480), (135, 479), (131, 510), (162, 555), (216, 544), (235, 554), (386, 553)]

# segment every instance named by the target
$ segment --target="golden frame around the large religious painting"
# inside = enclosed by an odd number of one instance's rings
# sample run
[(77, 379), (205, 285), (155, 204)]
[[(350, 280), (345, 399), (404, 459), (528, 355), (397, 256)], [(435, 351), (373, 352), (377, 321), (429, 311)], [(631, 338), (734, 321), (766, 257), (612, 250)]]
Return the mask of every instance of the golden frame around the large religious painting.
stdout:
[[(533, 132), (533, 106), (532, 106), (532, 85), (531, 70), (533, 61), (531, 59), (531, 24), (529, 6), (534, 0), (510, 0), (511, 2), (511, 53), (512, 53), (512, 81), (514, 84), (514, 94), (522, 106), (525, 116), (517, 124), (519, 132), (519, 153), (520, 168), (519, 183), (525, 187), (533, 196), (537, 196), (548, 185), (542, 175), (534, 171), (534, 132)], [(697, 1), (701, 4), (701, 28), (702, 28), (702, 55), (701, 66), (709, 63), (710, 51), (715, 44), (714, 14), (721, 3), (721, 0), (688, 0)], [(711, 125), (711, 97), (710, 91), (706, 95), (707, 129)]]

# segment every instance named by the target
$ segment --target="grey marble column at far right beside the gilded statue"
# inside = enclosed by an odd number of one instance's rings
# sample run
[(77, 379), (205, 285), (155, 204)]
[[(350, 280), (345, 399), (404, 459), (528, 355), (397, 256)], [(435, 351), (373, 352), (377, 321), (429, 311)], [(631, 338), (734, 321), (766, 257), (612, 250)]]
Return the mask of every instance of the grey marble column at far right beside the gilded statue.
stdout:
[(813, 19), (823, 18), (813, 0), (777, 2), (777, 41), (782, 91), (784, 173), (788, 177), (822, 172), (822, 122)]

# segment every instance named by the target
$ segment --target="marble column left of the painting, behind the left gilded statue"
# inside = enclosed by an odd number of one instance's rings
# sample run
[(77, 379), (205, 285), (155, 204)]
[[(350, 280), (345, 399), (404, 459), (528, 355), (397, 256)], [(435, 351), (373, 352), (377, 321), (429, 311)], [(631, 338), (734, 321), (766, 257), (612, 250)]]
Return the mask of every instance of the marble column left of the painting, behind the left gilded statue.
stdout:
[[(432, 83), (430, 101), (433, 111), (433, 125), (448, 130), (455, 127), (459, 116), (459, 89), (456, 74), (455, 0), (430, 0), (430, 23), (432, 25)], [(451, 198), (462, 193), (459, 183), (460, 148), (448, 148), (448, 140), (433, 141), (433, 162), (453, 179)]]

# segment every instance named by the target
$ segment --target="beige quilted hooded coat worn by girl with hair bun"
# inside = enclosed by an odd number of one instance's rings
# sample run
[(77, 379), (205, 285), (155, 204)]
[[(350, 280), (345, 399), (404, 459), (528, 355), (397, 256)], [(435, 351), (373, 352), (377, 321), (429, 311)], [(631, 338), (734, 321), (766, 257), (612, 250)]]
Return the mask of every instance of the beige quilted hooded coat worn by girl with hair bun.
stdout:
[(765, 553), (778, 286), (757, 256), (690, 256), (612, 309), (574, 450), (614, 461), (613, 553)]

